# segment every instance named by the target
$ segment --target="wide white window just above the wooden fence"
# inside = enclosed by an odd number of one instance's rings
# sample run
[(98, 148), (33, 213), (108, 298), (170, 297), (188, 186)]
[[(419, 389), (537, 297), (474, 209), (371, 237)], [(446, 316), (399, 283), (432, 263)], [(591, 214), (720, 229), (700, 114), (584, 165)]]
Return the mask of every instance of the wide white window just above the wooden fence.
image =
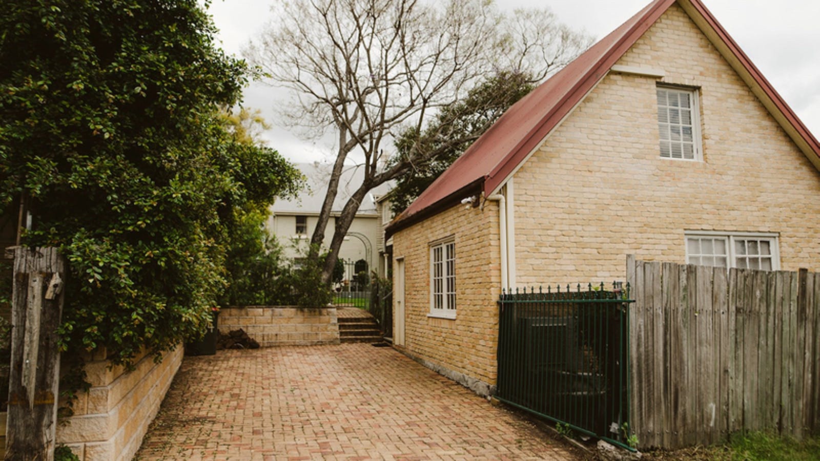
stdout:
[(686, 262), (701, 266), (777, 271), (780, 269), (777, 235), (687, 232)]

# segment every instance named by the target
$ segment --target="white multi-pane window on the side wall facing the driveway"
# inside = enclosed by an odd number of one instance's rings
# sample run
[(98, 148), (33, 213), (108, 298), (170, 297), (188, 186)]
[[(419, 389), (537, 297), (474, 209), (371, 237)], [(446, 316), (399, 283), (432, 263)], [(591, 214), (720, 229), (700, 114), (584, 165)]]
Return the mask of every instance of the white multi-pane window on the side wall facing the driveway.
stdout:
[[(430, 243), (430, 313), (427, 314), (428, 317), (450, 319), (456, 317), (455, 244), (453, 236)], [(437, 251), (440, 251), (440, 258)]]

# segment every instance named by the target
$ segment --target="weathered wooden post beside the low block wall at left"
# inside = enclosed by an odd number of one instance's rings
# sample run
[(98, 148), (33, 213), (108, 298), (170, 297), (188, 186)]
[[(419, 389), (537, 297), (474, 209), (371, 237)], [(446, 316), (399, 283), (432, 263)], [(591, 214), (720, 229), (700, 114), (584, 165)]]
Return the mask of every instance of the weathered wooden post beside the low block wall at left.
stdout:
[(5, 459), (54, 459), (65, 275), (57, 249), (14, 249)]

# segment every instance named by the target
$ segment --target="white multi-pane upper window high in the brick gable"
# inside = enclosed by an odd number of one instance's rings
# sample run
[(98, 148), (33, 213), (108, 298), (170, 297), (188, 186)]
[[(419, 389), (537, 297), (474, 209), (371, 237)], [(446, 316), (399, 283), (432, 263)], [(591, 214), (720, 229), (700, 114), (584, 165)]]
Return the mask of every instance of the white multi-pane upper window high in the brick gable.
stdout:
[(665, 86), (657, 90), (661, 157), (702, 159), (697, 90)]

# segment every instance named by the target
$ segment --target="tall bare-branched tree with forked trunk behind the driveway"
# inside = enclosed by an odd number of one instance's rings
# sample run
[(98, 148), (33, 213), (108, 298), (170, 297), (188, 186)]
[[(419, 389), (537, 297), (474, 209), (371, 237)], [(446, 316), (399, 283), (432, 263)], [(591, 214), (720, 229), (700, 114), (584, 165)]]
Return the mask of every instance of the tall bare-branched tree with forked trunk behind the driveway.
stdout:
[(549, 10), (508, 16), (486, 0), (294, 0), (280, 2), (274, 14), (248, 55), (271, 84), (292, 91), (287, 121), (313, 136), (331, 131), (336, 139), (313, 248), (324, 241), (345, 163), (361, 163), (364, 171), (335, 217), (325, 284), (365, 195), (439, 153), (409, 146), (384, 168), (385, 143), (408, 129), (421, 132), (430, 116), (465, 97), (488, 72), (541, 80), (590, 43)]

